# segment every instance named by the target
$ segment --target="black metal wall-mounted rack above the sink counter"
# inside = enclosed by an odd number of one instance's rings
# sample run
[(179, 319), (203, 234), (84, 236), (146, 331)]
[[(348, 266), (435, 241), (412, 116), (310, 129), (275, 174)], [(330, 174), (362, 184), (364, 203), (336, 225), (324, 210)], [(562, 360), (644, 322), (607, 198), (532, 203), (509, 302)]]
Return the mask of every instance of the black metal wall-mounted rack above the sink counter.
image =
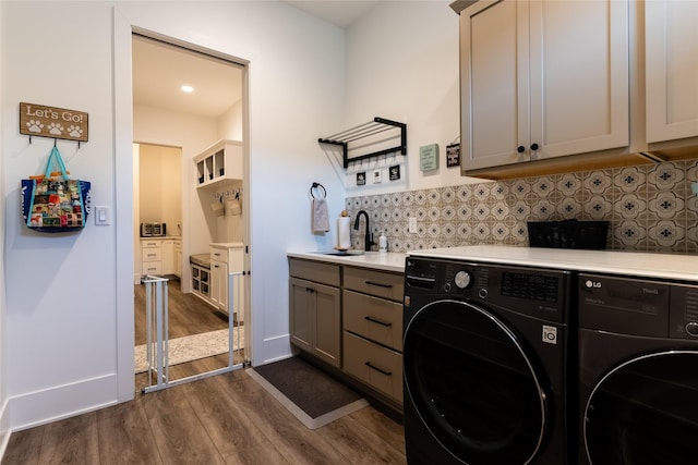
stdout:
[[(394, 146), (394, 140), (396, 139), (399, 139), (399, 145)], [(344, 167), (347, 169), (350, 162), (371, 157), (393, 152), (407, 155), (407, 124), (375, 117), (373, 121), (328, 137), (321, 137), (317, 142), (342, 147)], [(351, 156), (349, 154), (350, 151), (356, 152), (362, 150), (368, 150), (368, 152)]]

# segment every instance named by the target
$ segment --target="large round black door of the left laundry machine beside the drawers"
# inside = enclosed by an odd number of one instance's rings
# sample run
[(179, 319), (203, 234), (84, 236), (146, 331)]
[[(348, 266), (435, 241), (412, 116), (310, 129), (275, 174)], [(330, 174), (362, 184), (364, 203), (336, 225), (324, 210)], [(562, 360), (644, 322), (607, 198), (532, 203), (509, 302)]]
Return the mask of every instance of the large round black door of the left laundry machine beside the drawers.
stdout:
[[(440, 301), (405, 329), (405, 387), (434, 438), (469, 465), (529, 463), (549, 413), (540, 364), (485, 309)], [(552, 397), (551, 397), (552, 399)]]

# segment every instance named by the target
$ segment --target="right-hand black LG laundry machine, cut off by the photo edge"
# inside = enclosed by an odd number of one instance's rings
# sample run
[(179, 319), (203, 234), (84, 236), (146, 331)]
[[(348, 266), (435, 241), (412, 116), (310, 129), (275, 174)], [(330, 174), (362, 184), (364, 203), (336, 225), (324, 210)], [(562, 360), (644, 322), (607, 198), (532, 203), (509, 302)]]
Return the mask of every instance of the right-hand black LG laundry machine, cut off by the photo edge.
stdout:
[(698, 463), (698, 285), (579, 276), (581, 460)]

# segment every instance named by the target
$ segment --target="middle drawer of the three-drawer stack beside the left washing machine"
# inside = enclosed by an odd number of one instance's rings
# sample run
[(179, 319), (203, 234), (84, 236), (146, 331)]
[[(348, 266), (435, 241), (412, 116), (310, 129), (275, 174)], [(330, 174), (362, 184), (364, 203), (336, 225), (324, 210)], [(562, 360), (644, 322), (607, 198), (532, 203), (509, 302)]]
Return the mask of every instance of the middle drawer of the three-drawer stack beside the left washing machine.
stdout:
[(402, 304), (344, 291), (344, 329), (402, 352)]

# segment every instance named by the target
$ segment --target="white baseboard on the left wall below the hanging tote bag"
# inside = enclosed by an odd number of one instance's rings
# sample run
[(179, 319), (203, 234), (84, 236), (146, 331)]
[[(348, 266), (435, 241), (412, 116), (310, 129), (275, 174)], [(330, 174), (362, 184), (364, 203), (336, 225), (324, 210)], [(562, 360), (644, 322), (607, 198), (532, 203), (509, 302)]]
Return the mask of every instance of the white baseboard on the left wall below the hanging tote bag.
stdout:
[(20, 431), (117, 404), (117, 375), (10, 397), (11, 429)]

